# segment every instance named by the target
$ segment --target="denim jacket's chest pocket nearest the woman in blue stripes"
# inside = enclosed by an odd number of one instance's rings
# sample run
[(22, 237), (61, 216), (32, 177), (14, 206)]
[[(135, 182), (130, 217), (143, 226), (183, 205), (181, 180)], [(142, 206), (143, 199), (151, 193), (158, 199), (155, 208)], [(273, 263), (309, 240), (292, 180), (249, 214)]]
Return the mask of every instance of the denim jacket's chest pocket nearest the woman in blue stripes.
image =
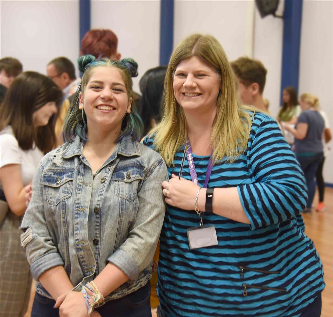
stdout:
[(143, 169), (137, 166), (127, 166), (116, 169), (113, 173), (115, 194), (118, 197), (132, 201), (138, 197), (139, 183), (143, 180)]

